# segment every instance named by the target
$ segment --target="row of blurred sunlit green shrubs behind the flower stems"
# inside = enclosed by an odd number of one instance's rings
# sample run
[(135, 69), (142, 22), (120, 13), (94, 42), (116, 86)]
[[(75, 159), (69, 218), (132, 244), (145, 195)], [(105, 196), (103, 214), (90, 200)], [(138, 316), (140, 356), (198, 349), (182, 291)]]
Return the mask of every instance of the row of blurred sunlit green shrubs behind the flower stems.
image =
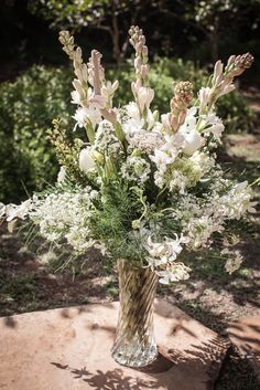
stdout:
[[(191, 81), (196, 92), (208, 77), (207, 71), (199, 70), (192, 61), (155, 57), (151, 67), (153, 108), (165, 113), (173, 80)], [(108, 72), (108, 78), (120, 81), (116, 105), (131, 98), (132, 72), (130, 63), (120, 71)], [(63, 117), (65, 128), (73, 128), (71, 81), (71, 70), (33, 66), (17, 81), (0, 85), (0, 201), (18, 201), (25, 197), (23, 187), (32, 193), (55, 179), (57, 164), (46, 140), (46, 129), (56, 117)], [(218, 109), (228, 131), (251, 128), (253, 115), (239, 92), (224, 96)]]

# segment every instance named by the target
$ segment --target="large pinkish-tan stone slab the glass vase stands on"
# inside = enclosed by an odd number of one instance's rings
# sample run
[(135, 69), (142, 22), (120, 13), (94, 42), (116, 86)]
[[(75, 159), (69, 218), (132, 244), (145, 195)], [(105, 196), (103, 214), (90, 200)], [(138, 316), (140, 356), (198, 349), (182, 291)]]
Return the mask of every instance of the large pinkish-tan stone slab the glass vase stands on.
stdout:
[(227, 341), (164, 299), (155, 302), (154, 363), (132, 369), (111, 356), (118, 303), (0, 318), (1, 390), (209, 390)]

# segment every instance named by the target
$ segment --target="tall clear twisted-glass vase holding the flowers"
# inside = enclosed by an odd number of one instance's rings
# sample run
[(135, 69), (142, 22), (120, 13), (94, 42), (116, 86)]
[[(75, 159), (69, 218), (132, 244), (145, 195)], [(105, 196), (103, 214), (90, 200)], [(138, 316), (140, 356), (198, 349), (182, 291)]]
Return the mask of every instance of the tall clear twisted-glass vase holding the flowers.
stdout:
[(153, 302), (158, 276), (127, 260), (118, 261), (120, 313), (112, 357), (120, 365), (144, 367), (158, 356)]

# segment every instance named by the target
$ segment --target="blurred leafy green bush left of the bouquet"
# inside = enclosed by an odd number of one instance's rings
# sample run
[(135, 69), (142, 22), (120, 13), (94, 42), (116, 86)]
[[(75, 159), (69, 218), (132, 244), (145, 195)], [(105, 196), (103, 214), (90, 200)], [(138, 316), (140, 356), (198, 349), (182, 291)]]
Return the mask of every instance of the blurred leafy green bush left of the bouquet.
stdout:
[(69, 73), (33, 66), (0, 85), (0, 200), (18, 201), (57, 173), (46, 129), (54, 117), (72, 125)]

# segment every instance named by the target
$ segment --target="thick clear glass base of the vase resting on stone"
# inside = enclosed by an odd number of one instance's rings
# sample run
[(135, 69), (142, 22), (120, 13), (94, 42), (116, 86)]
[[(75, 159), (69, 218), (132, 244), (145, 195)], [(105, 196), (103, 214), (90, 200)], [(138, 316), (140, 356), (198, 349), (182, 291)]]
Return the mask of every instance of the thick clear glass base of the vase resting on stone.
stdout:
[(124, 351), (124, 350), (112, 350), (112, 358), (121, 366), (131, 367), (131, 368), (140, 368), (147, 367), (151, 365), (158, 357), (158, 348), (156, 346), (151, 347), (149, 350), (133, 350), (133, 351)]

